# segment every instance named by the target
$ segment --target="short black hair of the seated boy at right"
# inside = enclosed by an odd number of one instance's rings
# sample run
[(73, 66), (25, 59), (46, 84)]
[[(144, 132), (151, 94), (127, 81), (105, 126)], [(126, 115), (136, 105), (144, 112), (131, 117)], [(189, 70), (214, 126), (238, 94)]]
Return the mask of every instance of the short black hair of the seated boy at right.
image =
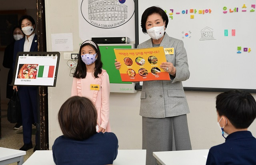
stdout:
[(256, 102), (248, 92), (230, 90), (216, 97), (219, 116), (226, 116), (237, 129), (248, 128), (256, 118)]

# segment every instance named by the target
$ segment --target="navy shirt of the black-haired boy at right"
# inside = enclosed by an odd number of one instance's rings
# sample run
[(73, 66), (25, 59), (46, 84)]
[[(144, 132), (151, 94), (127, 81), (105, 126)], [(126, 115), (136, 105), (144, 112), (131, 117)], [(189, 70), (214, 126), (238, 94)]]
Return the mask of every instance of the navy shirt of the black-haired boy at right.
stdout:
[(256, 165), (256, 139), (250, 131), (237, 131), (225, 143), (210, 148), (206, 165)]

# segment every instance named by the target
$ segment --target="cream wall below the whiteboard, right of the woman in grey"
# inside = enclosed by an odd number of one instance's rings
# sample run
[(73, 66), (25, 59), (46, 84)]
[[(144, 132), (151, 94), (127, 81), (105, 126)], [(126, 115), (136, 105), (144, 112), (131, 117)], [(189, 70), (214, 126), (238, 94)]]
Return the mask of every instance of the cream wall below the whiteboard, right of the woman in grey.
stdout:
[[(190, 113), (188, 114), (188, 127), (192, 149), (209, 149), (213, 145), (224, 143), (220, 129), (217, 125), (215, 97), (220, 92), (185, 91)], [(252, 94), (254, 99), (256, 94)], [(250, 125), (249, 131), (256, 136), (256, 120)]]

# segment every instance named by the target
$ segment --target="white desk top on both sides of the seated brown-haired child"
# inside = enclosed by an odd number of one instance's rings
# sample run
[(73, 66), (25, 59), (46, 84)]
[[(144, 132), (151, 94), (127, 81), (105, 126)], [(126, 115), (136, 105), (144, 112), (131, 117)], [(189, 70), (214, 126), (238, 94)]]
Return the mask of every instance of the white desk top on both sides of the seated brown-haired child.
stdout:
[[(55, 165), (52, 150), (35, 151), (23, 165)], [(146, 150), (118, 150), (114, 165), (146, 165)]]

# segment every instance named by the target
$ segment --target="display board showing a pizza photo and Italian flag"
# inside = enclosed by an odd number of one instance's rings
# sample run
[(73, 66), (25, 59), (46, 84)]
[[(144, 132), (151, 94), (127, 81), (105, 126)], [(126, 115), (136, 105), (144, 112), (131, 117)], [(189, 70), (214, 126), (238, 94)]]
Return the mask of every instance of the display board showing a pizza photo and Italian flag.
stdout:
[(55, 86), (58, 72), (59, 52), (18, 52), (14, 70), (14, 85)]

